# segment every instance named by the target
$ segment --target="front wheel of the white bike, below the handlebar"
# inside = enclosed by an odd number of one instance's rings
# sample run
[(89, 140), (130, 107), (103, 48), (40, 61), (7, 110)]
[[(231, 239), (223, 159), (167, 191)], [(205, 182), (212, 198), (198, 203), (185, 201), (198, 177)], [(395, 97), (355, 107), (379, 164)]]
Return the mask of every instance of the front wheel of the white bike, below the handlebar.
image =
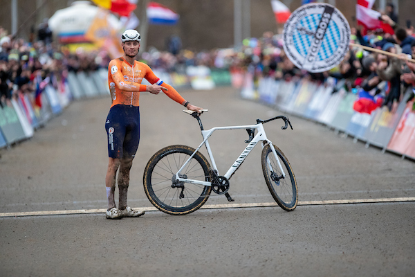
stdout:
[(262, 171), (264, 172), (266, 185), (275, 202), (281, 208), (285, 211), (293, 211), (297, 207), (298, 202), (297, 181), (295, 181), (293, 169), (284, 153), (275, 145), (274, 148), (284, 170), (285, 177), (282, 175), (273, 150), (271, 150), (270, 145), (266, 145), (261, 154)]

